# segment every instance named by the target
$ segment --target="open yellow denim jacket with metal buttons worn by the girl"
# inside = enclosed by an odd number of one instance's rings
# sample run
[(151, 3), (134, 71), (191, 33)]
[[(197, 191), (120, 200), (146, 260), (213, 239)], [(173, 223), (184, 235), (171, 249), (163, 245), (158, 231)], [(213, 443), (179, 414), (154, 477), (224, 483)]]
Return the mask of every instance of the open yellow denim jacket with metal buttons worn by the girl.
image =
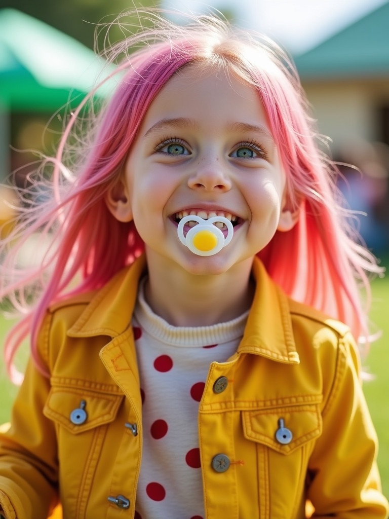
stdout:
[[(64, 519), (134, 517), (142, 402), (130, 322), (144, 266), (49, 309), (39, 352), (50, 379), (30, 362), (0, 438), (7, 519), (46, 519), (57, 503)], [(348, 327), (290, 301), (259, 261), (253, 276), (242, 341), (210, 365), (199, 405), (206, 519), (302, 519), (307, 502), (315, 517), (386, 517)]]

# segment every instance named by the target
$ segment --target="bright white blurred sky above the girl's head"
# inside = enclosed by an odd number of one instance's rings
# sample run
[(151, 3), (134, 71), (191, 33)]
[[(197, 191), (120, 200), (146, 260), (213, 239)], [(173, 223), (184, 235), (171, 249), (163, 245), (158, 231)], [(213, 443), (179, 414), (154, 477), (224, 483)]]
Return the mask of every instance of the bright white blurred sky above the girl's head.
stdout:
[(291, 52), (302, 52), (387, 0), (164, 0), (164, 7), (206, 12), (232, 10), (237, 23), (266, 33)]

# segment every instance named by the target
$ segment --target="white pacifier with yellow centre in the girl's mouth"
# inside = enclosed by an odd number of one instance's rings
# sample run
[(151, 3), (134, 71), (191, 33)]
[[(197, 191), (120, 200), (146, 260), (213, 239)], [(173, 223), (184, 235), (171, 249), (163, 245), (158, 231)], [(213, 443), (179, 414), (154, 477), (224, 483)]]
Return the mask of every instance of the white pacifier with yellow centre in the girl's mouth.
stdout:
[[(198, 222), (198, 224), (191, 227), (186, 236), (184, 236), (184, 226), (188, 222)], [(221, 222), (227, 226), (228, 233), (226, 237), (218, 227), (213, 225), (214, 222)], [(208, 220), (204, 220), (204, 218), (196, 214), (184, 216), (179, 221), (177, 228), (178, 238), (181, 243), (198, 256), (213, 256), (219, 252), (232, 240), (233, 231), (232, 223), (224, 216), (213, 216), (208, 218)]]

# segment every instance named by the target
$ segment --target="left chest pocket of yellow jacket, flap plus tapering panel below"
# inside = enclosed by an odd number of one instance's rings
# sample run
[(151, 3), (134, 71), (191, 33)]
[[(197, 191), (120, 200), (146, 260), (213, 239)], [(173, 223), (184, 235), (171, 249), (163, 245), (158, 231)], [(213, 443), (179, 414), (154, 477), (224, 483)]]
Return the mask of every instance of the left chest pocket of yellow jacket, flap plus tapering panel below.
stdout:
[(64, 517), (85, 517), (107, 430), (123, 398), (117, 392), (91, 391), (78, 385), (53, 386), (50, 390), (43, 412), (57, 431)]

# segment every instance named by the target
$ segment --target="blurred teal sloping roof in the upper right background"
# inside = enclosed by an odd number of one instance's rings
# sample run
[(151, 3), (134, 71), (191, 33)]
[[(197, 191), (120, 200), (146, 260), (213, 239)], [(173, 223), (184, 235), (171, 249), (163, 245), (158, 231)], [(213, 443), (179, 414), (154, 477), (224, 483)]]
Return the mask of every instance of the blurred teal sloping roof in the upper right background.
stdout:
[(389, 2), (295, 57), (301, 78), (389, 76)]

